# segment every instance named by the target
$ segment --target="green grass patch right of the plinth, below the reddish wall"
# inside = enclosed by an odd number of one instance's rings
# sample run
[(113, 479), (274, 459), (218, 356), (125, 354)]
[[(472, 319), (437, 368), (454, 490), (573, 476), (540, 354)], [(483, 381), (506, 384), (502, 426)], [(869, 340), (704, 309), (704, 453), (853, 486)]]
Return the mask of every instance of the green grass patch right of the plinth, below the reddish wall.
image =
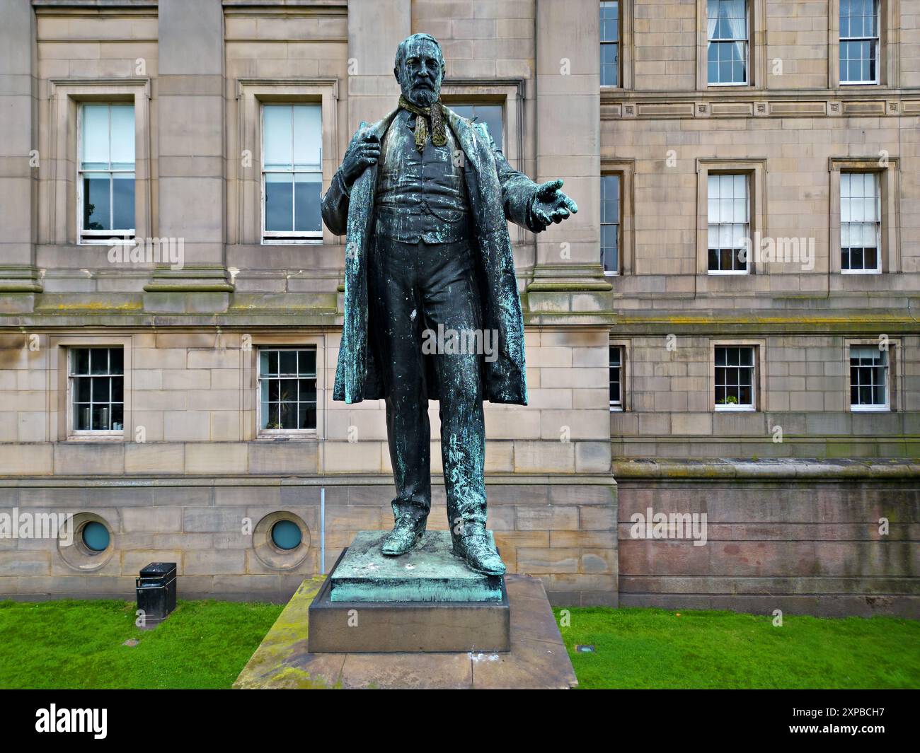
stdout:
[(561, 633), (580, 688), (920, 688), (912, 620), (787, 615), (774, 627), (730, 611), (569, 612)]

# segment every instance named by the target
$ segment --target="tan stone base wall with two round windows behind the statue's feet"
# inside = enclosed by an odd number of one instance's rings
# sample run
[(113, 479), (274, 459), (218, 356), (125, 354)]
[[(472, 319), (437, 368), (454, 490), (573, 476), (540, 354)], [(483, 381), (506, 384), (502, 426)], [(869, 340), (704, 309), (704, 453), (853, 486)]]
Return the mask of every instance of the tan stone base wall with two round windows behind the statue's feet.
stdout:
[[(554, 603), (616, 605), (616, 487), (609, 476), (490, 477), (487, 491), (489, 528), (510, 573), (543, 579)], [(305, 577), (328, 572), (355, 533), (389, 528), (393, 496), (380, 476), (147, 476), (130, 485), (120, 473), (5, 480), (3, 512), (91, 514), (109, 528), (111, 546), (75, 561), (50, 538), (0, 539), (0, 596), (133, 599), (141, 567), (176, 562), (181, 599), (284, 601)], [(429, 528), (446, 531), (443, 484), (433, 497)], [(265, 523), (259, 525), (280, 513), (304, 531), (303, 546), (289, 553), (267, 546)]]

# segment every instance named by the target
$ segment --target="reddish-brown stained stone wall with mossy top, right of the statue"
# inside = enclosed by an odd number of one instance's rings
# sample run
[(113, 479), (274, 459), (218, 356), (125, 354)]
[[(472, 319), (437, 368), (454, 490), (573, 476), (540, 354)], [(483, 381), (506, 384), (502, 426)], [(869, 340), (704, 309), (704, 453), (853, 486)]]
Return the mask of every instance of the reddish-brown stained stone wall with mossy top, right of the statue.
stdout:
[[(623, 606), (920, 617), (915, 465), (621, 462), (615, 471)], [(705, 544), (676, 527), (648, 538), (634, 526), (649, 510), (705, 514)]]

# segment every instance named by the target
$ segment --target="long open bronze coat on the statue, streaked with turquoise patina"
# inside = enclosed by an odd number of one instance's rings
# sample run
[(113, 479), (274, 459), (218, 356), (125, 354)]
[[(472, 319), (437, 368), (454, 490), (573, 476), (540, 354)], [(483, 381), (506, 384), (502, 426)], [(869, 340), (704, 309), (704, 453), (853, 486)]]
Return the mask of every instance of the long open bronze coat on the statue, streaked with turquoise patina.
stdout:
[[(508, 164), (484, 123), (472, 123), (445, 110), (447, 125), (465, 156), (482, 327), (498, 334), (497, 358), (480, 356), (485, 397), (491, 403), (527, 405), (523, 316), (507, 220), (535, 230), (530, 208), (537, 185)], [(397, 113), (398, 109), (393, 110), (370, 125), (362, 122), (352, 143), (367, 132), (375, 133), (383, 143)], [(367, 264), (368, 246), (373, 243), (376, 180), (377, 165), (370, 165), (348, 191), (337, 173), (322, 201), (328, 229), (345, 235), (345, 321), (332, 397), (346, 403), (386, 397), (374, 348), (368, 347)], [(431, 373), (431, 356), (423, 358), (428, 360), (426, 371)], [(437, 400), (436, 383), (429, 379), (426, 386), (428, 396)]]

